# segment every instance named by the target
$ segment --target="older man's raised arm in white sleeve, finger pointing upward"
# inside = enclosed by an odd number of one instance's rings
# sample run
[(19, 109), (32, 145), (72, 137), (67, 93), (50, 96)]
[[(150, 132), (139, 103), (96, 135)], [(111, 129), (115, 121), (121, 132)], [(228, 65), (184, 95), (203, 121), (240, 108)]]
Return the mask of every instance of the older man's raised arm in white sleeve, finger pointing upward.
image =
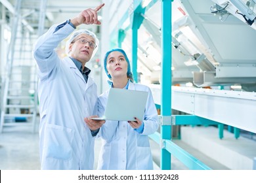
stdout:
[(97, 12), (104, 6), (104, 3), (95, 9), (88, 8), (81, 11), (72, 20), (67, 20), (59, 25), (53, 25), (47, 33), (39, 37), (33, 48), (33, 56), (37, 62), (41, 77), (47, 76), (54, 67), (58, 67), (60, 59), (54, 49), (58, 44), (68, 37), (78, 25), (100, 24)]

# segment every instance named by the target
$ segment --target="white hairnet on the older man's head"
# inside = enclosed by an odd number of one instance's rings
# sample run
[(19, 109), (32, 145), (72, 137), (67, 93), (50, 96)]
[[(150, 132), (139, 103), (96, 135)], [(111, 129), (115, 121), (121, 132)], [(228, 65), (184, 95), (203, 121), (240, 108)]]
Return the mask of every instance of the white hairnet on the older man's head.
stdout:
[(69, 52), (70, 43), (72, 41), (74, 41), (75, 37), (77, 37), (77, 36), (79, 36), (81, 34), (87, 34), (87, 35), (93, 37), (93, 39), (95, 39), (96, 48), (95, 48), (95, 50), (93, 50), (93, 54), (91, 56), (91, 58), (93, 58), (95, 56), (97, 50), (98, 50), (98, 42), (99, 41), (98, 41), (95, 33), (93, 33), (92, 31), (89, 31), (87, 29), (81, 29), (81, 30), (78, 30), (78, 31), (74, 31), (74, 33), (70, 36), (70, 39), (68, 39), (68, 41), (66, 42), (66, 48), (65, 48), (66, 54), (68, 56), (70, 56), (70, 52)]

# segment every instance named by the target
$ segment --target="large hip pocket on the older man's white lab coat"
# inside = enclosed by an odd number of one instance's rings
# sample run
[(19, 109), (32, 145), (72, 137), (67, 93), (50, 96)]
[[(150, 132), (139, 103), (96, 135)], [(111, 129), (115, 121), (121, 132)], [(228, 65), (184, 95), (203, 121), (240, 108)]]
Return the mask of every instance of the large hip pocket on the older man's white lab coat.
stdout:
[(45, 137), (44, 150), (47, 158), (68, 160), (72, 157), (74, 129), (47, 124)]

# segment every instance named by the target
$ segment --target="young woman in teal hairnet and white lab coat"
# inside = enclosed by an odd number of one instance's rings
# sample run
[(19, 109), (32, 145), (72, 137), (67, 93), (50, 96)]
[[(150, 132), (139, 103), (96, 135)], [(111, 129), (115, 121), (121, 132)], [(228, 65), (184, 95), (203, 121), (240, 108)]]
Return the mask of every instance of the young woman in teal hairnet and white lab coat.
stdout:
[[(129, 59), (121, 48), (106, 53), (104, 69), (111, 87), (146, 91), (148, 99), (142, 119), (135, 118), (131, 122), (107, 120), (102, 125), (99, 131), (102, 147), (98, 169), (153, 169), (148, 135), (158, 129), (158, 113), (150, 88), (133, 83)], [(98, 116), (104, 114), (108, 92), (109, 90), (98, 97)]]

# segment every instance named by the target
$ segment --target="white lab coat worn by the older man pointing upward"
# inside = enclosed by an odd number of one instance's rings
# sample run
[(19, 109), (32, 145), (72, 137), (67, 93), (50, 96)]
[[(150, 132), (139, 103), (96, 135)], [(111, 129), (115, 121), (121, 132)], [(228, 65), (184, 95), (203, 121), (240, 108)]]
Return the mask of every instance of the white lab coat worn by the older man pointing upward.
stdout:
[(94, 139), (83, 118), (93, 115), (97, 88), (87, 83), (70, 58), (58, 58), (54, 48), (74, 28), (56, 25), (33, 49), (39, 77), (39, 143), (41, 169), (93, 169)]

